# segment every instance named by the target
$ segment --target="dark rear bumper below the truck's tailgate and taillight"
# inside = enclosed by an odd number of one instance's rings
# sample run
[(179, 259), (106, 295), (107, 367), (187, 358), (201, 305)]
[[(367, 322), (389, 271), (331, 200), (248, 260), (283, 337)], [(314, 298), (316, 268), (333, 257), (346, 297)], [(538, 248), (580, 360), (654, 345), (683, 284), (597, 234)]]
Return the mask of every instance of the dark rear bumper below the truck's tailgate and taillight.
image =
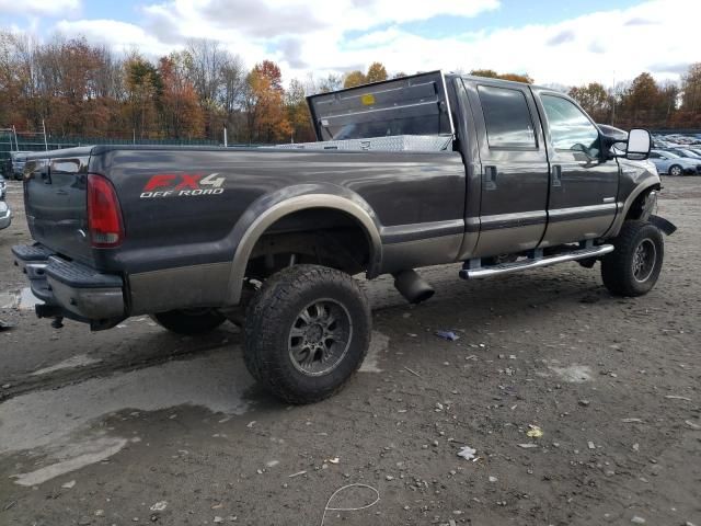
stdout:
[[(66, 316), (92, 322), (122, 320), (126, 317), (124, 281), (114, 274), (67, 261), (41, 244), (12, 248), (15, 264), (30, 279), (32, 293), (46, 307), (41, 316)], [(50, 312), (50, 315), (48, 315)]]

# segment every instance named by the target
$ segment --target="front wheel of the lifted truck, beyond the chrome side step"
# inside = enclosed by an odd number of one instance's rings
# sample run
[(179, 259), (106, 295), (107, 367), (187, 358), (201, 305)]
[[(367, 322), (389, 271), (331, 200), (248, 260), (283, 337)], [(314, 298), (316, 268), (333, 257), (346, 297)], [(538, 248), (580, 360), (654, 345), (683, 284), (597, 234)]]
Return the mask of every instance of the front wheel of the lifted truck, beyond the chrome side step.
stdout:
[(611, 294), (642, 296), (657, 283), (665, 255), (663, 235), (644, 221), (625, 221), (614, 250), (601, 260), (601, 278)]

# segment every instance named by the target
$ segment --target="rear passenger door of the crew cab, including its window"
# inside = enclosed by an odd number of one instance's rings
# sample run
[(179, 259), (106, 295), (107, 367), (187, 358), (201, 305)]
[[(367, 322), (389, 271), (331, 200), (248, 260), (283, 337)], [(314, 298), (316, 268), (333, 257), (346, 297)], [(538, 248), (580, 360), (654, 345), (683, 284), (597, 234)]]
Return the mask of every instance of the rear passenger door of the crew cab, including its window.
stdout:
[(548, 156), (527, 85), (464, 80), (478, 135), (482, 188), (473, 256), (530, 250), (547, 225)]

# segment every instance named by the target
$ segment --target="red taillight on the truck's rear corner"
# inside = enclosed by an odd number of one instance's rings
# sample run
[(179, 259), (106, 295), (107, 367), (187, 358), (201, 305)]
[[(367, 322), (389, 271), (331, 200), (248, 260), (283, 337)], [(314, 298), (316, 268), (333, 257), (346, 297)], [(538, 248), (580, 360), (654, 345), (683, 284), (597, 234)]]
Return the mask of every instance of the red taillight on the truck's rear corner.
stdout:
[(102, 175), (88, 175), (88, 229), (99, 249), (118, 247), (124, 240), (119, 201), (114, 186)]

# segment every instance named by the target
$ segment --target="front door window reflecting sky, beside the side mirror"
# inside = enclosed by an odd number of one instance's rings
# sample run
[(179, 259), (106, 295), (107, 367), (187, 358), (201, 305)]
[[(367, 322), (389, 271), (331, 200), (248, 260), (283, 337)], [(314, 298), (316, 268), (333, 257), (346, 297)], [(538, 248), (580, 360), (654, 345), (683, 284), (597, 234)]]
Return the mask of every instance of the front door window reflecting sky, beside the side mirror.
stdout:
[(553, 95), (542, 95), (542, 101), (555, 150), (599, 157), (599, 130), (576, 105)]

